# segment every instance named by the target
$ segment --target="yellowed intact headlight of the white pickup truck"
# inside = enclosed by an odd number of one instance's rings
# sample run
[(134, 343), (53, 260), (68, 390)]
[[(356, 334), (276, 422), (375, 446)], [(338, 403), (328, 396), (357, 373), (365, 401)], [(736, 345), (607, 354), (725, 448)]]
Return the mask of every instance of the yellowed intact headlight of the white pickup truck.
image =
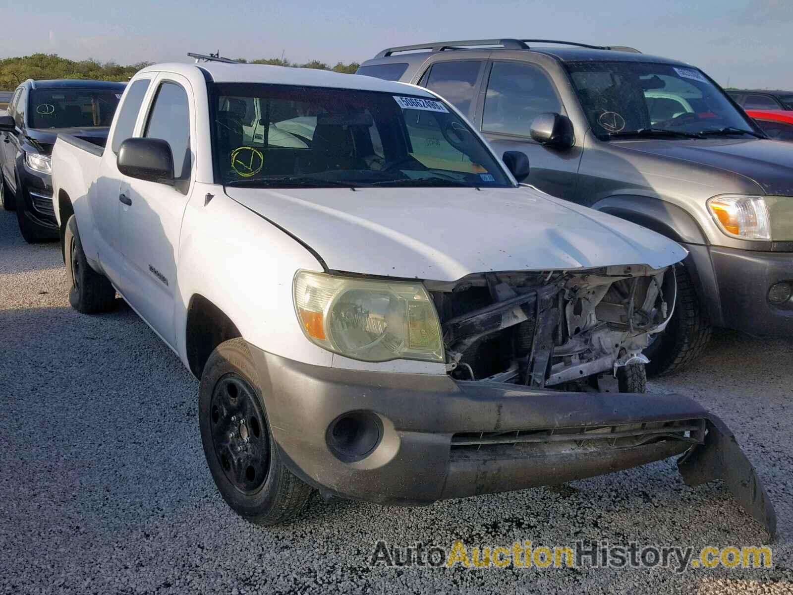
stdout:
[(295, 311), (320, 347), (365, 362), (444, 362), (435, 305), (421, 283), (369, 281), (298, 271)]

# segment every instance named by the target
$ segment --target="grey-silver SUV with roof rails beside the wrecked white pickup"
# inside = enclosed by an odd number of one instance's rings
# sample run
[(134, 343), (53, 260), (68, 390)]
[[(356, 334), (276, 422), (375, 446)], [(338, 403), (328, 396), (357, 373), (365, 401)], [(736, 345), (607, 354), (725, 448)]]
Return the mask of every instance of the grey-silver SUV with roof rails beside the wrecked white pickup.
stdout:
[(703, 71), (633, 48), (501, 39), (388, 48), (358, 74), (434, 90), (498, 152), (525, 152), (531, 185), (688, 249), (650, 374), (695, 359), (713, 326), (793, 336), (793, 151)]

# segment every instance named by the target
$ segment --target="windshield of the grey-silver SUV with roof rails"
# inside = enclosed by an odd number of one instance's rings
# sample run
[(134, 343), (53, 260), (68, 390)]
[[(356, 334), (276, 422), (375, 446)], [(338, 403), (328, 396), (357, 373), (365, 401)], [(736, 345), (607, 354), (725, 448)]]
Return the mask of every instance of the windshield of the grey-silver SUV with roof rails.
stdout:
[(696, 68), (636, 62), (571, 62), (565, 67), (592, 131), (602, 138), (637, 132), (675, 138), (724, 129), (755, 131)]

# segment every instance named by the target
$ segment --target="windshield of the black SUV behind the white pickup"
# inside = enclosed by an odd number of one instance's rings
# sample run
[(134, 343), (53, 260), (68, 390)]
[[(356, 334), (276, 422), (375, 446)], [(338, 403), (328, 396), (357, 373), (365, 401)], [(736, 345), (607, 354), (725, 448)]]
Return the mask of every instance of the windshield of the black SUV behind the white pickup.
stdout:
[(124, 91), (106, 89), (34, 89), (30, 92), (30, 128), (109, 126)]

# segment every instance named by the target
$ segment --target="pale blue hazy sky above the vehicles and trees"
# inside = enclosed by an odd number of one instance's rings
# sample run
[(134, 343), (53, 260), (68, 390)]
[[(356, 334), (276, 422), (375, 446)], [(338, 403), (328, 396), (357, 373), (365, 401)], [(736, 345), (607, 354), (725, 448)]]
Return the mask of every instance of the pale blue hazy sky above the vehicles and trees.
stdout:
[(0, 21), (0, 57), (126, 64), (220, 50), (332, 65), (393, 45), (542, 37), (630, 45), (695, 64), (722, 86), (793, 88), (793, 0), (0, 0)]

